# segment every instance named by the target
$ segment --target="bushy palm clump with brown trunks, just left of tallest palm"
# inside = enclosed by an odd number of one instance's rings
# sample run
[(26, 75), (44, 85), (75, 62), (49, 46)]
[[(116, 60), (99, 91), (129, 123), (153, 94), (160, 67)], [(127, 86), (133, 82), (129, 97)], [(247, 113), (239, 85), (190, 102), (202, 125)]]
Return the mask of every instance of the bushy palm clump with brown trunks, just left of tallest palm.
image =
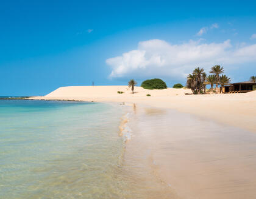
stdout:
[(187, 76), (187, 88), (191, 89), (194, 94), (202, 93), (202, 90), (205, 92), (205, 78), (204, 69), (197, 67), (192, 74)]

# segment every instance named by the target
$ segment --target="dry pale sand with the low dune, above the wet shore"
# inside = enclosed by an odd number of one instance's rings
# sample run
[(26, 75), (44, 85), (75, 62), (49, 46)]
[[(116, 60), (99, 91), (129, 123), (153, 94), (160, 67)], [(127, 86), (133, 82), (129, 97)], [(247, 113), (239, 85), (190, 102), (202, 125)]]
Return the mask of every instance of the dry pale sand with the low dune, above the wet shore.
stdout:
[[(124, 93), (119, 94), (118, 91)], [(70, 86), (60, 87), (34, 100), (82, 100), (121, 102), (171, 108), (203, 118), (256, 132), (256, 91), (220, 95), (185, 95), (189, 89), (147, 90), (135, 87), (132, 94), (127, 86)], [(146, 96), (150, 94), (151, 96)]]

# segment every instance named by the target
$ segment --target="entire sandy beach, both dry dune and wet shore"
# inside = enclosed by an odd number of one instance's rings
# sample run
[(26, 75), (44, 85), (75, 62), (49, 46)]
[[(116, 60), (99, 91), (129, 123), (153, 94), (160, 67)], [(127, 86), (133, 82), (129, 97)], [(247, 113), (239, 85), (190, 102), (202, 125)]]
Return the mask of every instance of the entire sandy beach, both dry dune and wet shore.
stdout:
[(127, 124), (132, 138), (124, 160), (163, 184), (165, 194), (150, 198), (165, 198), (166, 187), (173, 193), (170, 198), (255, 198), (256, 92), (134, 91), (127, 86), (61, 87), (32, 99), (131, 105)]

